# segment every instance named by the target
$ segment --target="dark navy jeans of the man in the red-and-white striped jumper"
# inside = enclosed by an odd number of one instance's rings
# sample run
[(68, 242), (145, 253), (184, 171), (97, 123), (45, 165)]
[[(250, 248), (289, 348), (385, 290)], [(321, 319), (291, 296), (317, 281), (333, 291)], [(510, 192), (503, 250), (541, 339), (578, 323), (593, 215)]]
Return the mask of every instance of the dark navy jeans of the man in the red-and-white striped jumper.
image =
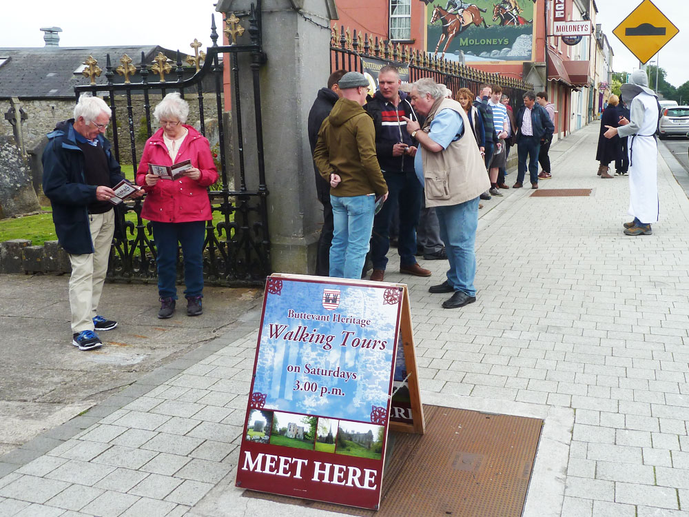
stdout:
[(416, 263), (416, 225), (421, 211), (421, 194), (423, 187), (416, 177), (416, 172), (383, 172), (385, 183), (390, 192), (387, 201), (373, 219), (373, 236), (371, 236), (371, 261), (374, 270), (385, 270), (387, 252), (390, 249), (391, 224), (393, 212), (399, 205), (398, 252), (400, 265)]

